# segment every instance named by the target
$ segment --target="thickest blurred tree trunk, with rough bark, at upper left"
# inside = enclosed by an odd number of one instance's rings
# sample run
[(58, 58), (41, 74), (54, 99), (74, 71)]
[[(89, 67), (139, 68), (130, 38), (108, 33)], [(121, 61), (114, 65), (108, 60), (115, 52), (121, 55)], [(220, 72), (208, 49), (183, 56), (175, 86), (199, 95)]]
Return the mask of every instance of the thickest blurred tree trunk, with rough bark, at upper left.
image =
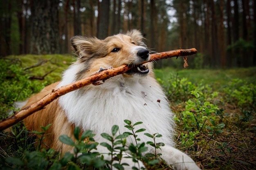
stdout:
[(58, 0), (32, 1), (31, 53), (59, 53)]

